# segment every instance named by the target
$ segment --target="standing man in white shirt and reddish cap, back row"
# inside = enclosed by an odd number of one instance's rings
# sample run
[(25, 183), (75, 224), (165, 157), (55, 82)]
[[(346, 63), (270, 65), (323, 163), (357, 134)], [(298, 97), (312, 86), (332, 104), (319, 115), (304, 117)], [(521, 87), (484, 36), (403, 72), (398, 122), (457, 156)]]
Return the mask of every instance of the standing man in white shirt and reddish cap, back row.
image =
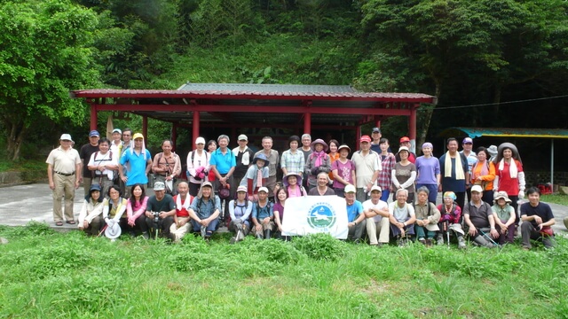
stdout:
[(359, 138), (361, 150), (351, 155), (351, 160), (355, 165), (357, 182), (357, 200), (361, 203), (368, 199), (367, 193), (375, 185), (381, 167), (381, 159), (377, 152), (371, 152), (371, 137), (361, 136)]

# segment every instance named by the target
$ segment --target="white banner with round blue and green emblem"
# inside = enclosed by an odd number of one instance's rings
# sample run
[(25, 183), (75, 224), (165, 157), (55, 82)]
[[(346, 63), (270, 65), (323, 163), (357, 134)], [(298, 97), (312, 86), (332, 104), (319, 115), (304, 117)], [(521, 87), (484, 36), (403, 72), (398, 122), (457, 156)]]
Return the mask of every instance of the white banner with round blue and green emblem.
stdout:
[(284, 236), (323, 232), (335, 238), (346, 239), (349, 232), (345, 199), (337, 196), (288, 198), (283, 219)]

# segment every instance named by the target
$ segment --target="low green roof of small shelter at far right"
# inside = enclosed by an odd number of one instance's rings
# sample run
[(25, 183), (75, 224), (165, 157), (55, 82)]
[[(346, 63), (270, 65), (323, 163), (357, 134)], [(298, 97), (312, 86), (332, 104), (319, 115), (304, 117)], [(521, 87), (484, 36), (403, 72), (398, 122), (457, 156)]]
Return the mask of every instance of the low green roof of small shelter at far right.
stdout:
[(446, 128), (438, 134), (442, 137), (463, 136), (475, 138), (481, 136), (498, 137), (533, 137), (533, 138), (568, 138), (568, 129), (559, 128)]

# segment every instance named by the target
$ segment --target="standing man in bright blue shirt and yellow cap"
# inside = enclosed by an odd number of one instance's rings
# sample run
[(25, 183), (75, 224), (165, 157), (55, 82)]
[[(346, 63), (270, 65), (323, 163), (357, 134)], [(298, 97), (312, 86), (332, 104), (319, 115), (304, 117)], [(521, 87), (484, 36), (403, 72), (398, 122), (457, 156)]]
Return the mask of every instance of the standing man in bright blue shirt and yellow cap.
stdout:
[[(130, 198), (130, 189), (137, 183), (146, 185), (148, 183), (148, 172), (152, 168), (152, 155), (146, 149), (144, 136), (136, 133), (134, 136), (134, 146), (122, 152), (118, 173), (125, 184), (125, 198)], [(128, 165), (127, 165), (128, 164)], [(124, 171), (124, 167), (128, 167)]]

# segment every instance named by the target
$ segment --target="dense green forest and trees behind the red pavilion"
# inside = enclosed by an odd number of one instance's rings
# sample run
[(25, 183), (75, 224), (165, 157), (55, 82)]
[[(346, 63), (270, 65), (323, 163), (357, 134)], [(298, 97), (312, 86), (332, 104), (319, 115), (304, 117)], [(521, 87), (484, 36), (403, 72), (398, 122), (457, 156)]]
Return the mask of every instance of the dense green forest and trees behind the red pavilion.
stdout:
[[(85, 135), (88, 108), (70, 89), (185, 82), (435, 95), (438, 105), (419, 113), (419, 140), (452, 126), (566, 128), (567, 9), (564, 0), (5, 0), (0, 144), (26, 159), (62, 130)], [(383, 130), (400, 136), (406, 125), (391, 118)]]

